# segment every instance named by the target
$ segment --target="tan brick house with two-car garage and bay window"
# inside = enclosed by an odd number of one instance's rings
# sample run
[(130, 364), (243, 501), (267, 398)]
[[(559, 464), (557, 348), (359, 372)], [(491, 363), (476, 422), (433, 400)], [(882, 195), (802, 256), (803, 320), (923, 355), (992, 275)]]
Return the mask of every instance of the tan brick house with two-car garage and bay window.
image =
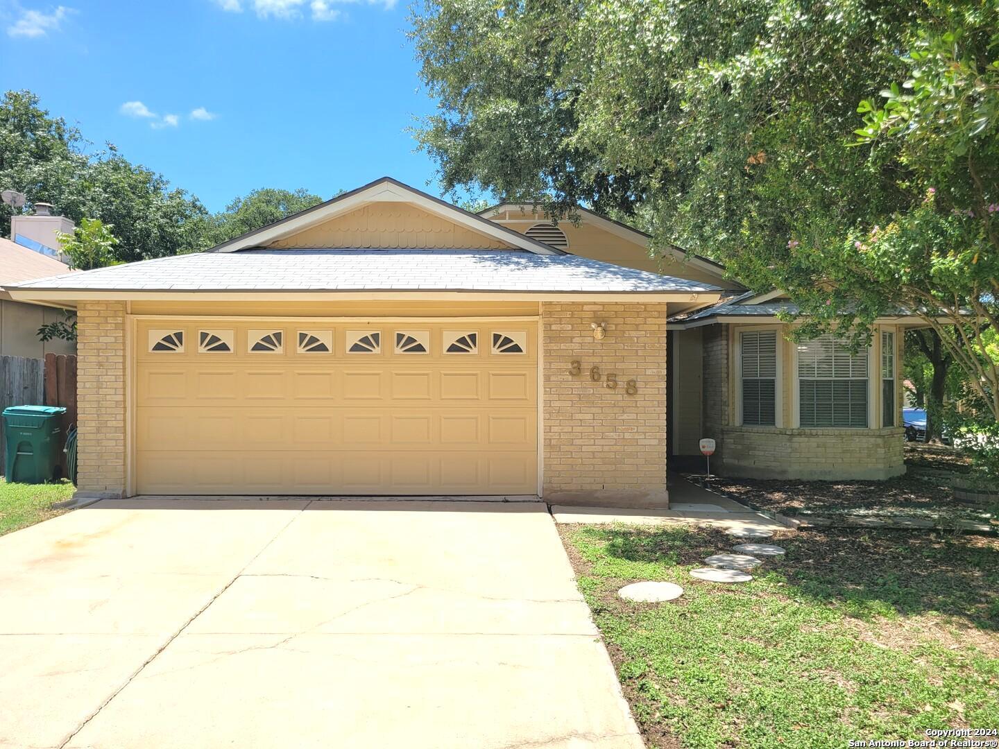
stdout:
[(902, 469), (901, 321), (856, 358), (793, 347), (721, 267), (586, 211), (475, 215), (385, 178), (13, 294), (78, 310), (83, 495), (664, 506), (668, 453), (711, 435), (733, 472)]

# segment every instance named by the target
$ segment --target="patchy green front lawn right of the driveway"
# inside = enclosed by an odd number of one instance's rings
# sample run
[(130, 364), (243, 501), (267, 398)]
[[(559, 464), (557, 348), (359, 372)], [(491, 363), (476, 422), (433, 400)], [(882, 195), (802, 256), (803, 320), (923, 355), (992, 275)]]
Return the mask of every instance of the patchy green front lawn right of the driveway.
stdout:
[[(562, 526), (579, 587), (656, 747), (827, 747), (999, 727), (999, 543), (800, 532), (741, 585), (688, 570), (713, 529)], [(737, 542), (737, 541), (735, 541)], [(668, 580), (663, 604), (621, 601)]]

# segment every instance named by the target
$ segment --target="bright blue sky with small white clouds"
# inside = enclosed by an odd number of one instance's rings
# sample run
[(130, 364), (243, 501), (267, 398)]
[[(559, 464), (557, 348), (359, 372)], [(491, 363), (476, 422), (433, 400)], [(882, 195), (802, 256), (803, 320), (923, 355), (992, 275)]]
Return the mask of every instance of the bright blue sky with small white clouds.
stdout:
[(30, 89), (213, 211), (390, 175), (439, 194), (406, 132), (434, 104), (393, 0), (0, 0), (0, 85)]

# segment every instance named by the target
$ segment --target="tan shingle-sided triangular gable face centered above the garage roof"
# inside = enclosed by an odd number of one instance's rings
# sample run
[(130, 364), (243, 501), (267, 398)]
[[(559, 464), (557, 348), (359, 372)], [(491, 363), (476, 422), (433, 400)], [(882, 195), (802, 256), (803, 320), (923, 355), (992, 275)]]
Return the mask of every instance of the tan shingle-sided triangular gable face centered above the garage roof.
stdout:
[(509, 250), (488, 237), (418, 206), (369, 203), (342, 216), (274, 240), (267, 248), (363, 248), (378, 250)]

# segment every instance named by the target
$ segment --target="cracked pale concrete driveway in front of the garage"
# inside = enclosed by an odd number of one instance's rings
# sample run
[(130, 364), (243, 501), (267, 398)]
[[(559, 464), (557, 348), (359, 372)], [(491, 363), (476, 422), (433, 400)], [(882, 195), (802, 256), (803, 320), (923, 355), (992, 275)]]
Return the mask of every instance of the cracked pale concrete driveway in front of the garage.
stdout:
[(641, 747), (539, 502), (104, 501), (0, 538), (3, 747)]

